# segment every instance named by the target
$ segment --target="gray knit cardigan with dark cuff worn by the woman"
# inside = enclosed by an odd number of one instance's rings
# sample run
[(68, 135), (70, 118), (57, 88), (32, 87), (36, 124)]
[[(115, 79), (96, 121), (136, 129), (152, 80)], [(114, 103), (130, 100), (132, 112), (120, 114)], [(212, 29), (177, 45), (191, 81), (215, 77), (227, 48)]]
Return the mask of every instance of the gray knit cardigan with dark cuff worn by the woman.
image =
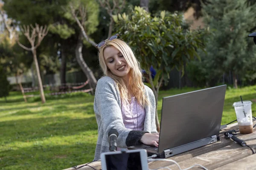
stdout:
[(155, 124), (155, 99), (153, 91), (145, 86), (145, 95), (151, 107), (145, 106), (144, 130), (130, 130), (125, 128), (121, 113), (120, 94), (111, 77), (102, 77), (98, 80), (94, 98), (94, 112), (98, 124), (98, 141), (96, 144), (94, 161), (100, 159), (100, 154), (109, 151), (108, 132), (116, 129), (119, 136), (117, 147), (126, 148), (140, 143), (145, 132), (157, 133)]

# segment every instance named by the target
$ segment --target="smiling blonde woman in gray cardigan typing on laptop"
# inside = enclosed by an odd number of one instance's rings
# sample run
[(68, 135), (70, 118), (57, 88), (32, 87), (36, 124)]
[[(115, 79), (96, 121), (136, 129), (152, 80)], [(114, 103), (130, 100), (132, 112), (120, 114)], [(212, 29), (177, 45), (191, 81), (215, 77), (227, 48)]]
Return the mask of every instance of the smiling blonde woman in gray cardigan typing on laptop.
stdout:
[(109, 151), (111, 129), (119, 134), (118, 148), (140, 142), (158, 147), (154, 94), (143, 84), (140, 64), (131, 48), (117, 36), (97, 45), (105, 77), (98, 80), (94, 99), (99, 134), (94, 160)]

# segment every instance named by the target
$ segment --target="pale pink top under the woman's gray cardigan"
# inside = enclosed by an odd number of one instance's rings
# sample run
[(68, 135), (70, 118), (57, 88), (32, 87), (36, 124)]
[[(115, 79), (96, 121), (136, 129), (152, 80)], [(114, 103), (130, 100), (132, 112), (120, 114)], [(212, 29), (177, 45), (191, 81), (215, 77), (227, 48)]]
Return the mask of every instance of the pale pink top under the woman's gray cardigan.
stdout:
[(126, 128), (144, 130), (145, 108), (137, 102), (135, 96), (131, 97), (130, 105), (122, 102), (122, 118)]

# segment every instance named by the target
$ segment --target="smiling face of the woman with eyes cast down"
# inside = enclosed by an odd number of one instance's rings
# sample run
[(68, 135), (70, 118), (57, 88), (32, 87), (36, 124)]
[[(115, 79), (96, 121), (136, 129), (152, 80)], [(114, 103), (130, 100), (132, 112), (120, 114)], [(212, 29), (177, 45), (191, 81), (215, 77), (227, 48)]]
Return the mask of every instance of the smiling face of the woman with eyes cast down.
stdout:
[(128, 66), (122, 53), (113, 46), (109, 46), (103, 51), (105, 63), (109, 70), (116, 76), (128, 78), (130, 67)]

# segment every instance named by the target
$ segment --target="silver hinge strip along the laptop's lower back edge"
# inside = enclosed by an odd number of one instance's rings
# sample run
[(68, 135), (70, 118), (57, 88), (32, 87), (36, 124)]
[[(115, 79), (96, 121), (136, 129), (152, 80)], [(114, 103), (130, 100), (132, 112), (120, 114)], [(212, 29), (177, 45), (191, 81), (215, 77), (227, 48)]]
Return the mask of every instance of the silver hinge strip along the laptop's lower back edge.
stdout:
[(217, 142), (217, 136), (216, 135), (212, 135), (209, 138), (201, 139), (199, 141), (192, 142), (192, 143), (189, 143), (189, 144), (184, 144), (182, 146), (175, 147), (175, 148), (172, 148), (172, 149), (166, 149), (163, 152), (164, 152), (165, 158), (168, 158), (170, 156), (174, 156), (174, 155), (177, 155), (179, 153), (183, 153), (183, 152), (186, 152), (186, 151), (189, 151), (189, 150), (201, 147), (201, 146), (205, 146), (207, 144), (212, 144), (214, 142)]

